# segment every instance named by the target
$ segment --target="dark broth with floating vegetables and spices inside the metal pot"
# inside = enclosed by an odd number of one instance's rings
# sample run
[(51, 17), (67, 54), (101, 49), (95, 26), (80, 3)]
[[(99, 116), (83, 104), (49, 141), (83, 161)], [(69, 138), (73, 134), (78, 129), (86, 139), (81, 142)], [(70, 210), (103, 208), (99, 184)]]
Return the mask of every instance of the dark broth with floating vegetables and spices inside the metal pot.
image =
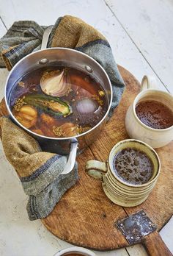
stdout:
[[(57, 83), (60, 96), (51, 94), (56, 91), (54, 87), (48, 93), (52, 85), (49, 77), (53, 81), (56, 73), (64, 74), (65, 82)], [(105, 115), (108, 103), (105, 91), (93, 77), (75, 68), (56, 65), (21, 77), (12, 88), (10, 108), (15, 118), (33, 132), (67, 138), (95, 127)]]

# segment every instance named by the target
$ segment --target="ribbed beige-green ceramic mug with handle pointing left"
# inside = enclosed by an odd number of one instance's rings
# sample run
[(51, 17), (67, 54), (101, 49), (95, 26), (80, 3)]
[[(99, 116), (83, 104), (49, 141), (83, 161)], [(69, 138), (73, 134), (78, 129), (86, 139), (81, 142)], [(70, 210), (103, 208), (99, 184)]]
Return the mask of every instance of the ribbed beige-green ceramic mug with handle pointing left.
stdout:
[[(153, 172), (150, 180), (141, 185), (133, 185), (120, 179), (114, 171), (114, 156), (122, 149), (133, 148), (147, 154), (153, 164)], [(106, 163), (89, 160), (86, 166), (86, 172), (90, 177), (100, 179), (103, 185), (103, 191), (109, 199), (117, 205), (131, 207), (140, 205), (147, 199), (157, 182), (161, 170), (161, 162), (158, 154), (142, 141), (125, 140), (117, 143), (109, 153)]]

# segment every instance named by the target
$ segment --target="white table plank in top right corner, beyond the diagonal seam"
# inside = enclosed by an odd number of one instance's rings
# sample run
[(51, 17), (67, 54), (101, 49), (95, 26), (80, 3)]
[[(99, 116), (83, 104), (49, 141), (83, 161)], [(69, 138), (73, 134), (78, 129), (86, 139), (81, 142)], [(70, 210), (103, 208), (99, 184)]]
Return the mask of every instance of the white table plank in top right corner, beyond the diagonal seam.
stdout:
[(173, 1), (106, 0), (106, 3), (155, 74), (173, 93)]

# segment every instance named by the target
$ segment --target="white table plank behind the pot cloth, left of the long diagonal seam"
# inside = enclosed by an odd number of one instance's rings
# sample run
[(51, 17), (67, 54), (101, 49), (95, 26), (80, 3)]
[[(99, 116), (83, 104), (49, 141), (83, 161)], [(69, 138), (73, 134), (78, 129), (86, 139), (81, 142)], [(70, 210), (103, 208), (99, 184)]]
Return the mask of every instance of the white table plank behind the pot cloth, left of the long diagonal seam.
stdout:
[[(132, 5), (135, 7), (135, 4)], [(121, 9), (121, 7), (119, 8)], [(7, 29), (14, 21), (27, 19), (36, 21), (40, 25), (51, 25), (59, 16), (67, 14), (82, 18), (103, 33), (111, 45), (116, 62), (127, 68), (136, 79), (141, 81), (144, 74), (155, 75), (150, 64), (141, 55), (140, 47), (136, 48), (133, 40), (129, 38), (125, 29), (119, 24), (103, 0), (0, 0), (0, 15)], [(129, 17), (130, 20), (129, 15), (128, 12), (127, 18)], [(121, 18), (123, 17), (124, 15)], [(164, 59), (163, 63), (166, 65)], [(166, 90), (159, 79), (158, 87), (161, 90)]]

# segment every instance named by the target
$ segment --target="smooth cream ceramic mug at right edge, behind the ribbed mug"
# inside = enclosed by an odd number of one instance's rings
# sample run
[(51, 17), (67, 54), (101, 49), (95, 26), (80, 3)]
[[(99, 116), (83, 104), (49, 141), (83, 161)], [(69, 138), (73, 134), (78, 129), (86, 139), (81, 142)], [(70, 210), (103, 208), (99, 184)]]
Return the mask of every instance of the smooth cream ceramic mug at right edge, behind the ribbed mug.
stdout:
[(155, 100), (165, 104), (173, 112), (172, 95), (156, 88), (157, 80), (155, 77), (144, 76), (141, 81), (141, 92), (136, 96), (125, 116), (125, 128), (129, 137), (144, 141), (154, 149), (165, 146), (173, 140), (173, 126), (166, 129), (148, 127), (136, 115), (136, 104), (144, 100)]

